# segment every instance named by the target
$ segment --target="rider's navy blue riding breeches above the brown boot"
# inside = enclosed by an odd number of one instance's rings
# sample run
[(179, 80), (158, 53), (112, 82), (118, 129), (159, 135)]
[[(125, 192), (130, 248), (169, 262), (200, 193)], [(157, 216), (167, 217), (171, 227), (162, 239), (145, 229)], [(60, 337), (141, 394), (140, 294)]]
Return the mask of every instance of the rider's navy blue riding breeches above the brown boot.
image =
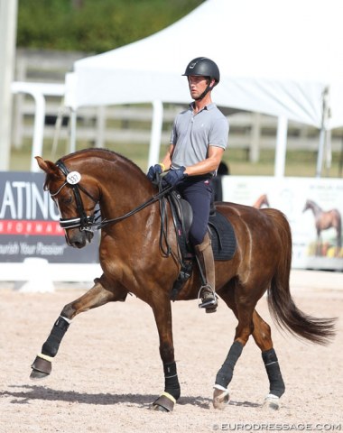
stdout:
[(181, 197), (190, 203), (193, 221), (190, 226), (190, 243), (202, 243), (209, 224), (212, 185), (209, 176), (190, 176), (177, 185)]

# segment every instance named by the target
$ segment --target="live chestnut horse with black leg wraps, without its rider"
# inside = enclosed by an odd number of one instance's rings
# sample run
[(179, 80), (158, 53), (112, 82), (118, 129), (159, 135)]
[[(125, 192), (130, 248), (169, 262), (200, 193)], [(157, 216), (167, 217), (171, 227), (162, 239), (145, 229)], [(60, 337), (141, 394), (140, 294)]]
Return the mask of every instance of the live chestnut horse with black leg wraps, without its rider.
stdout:
[[(171, 290), (180, 272), (179, 249), (171, 210), (165, 205), (161, 248), (162, 203), (153, 183), (132, 161), (115, 152), (88, 149), (71, 153), (56, 163), (37, 157), (46, 173), (44, 188), (60, 209), (60, 226), (68, 244), (82, 248), (97, 226), (94, 212), (101, 210), (99, 260), (103, 270), (94, 286), (60, 313), (42, 353), (32, 364), (31, 377), (51, 373), (51, 361), (70, 321), (79, 313), (110, 301), (125, 301), (134, 293), (153, 309), (160, 338), (164, 371), (164, 392), (152, 409), (170, 411), (181, 394), (172, 342)], [(160, 207), (161, 206), (161, 207)], [(218, 296), (233, 310), (238, 324), (227, 358), (218, 370), (213, 405), (223, 409), (229, 399), (227, 386), (237, 359), (249, 336), (261, 349), (269, 379), (267, 407), (277, 409), (284, 392), (283, 377), (273, 349), (271, 330), (255, 306), (268, 291), (268, 303), (276, 321), (292, 334), (325, 344), (334, 336), (334, 319), (313, 318), (298, 309), (289, 287), (292, 239), (290, 226), (276, 209), (255, 209), (232, 203), (218, 203), (217, 211), (230, 220), (236, 234), (236, 251), (231, 260), (216, 262)], [(149, 254), (146, 254), (146, 252)], [(176, 300), (197, 299), (200, 277), (196, 266)], [(222, 331), (221, 331), (222, 333)], [(222, 339), (223, 336), (217, 337)]]

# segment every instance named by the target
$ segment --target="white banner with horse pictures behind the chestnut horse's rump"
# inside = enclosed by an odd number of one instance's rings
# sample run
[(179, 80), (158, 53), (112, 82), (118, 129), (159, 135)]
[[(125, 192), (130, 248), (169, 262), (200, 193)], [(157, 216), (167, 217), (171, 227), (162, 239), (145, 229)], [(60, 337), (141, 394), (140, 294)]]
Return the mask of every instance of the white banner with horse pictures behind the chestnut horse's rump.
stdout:
[(285, 214), (293, 268), (343, 271), (342, 179), (225, 176), (222, 186), (225, 201)]

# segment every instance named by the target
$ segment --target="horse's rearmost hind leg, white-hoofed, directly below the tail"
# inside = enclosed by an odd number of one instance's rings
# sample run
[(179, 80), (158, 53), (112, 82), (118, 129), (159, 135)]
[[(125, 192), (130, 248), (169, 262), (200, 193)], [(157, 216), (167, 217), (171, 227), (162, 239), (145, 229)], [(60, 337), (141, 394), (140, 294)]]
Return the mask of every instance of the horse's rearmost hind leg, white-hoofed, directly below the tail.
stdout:
[(277, 410), (280, 405), (279, 399), (283, 395), (285, 387), (280, 365), (273, 349), (271, 329), (256, 310), (254, 311), (253, 322), (253, 337), (256, 345), (261, 349), (265, 371), (269, 380), (269, 394), (264, 400), (264, 406)]

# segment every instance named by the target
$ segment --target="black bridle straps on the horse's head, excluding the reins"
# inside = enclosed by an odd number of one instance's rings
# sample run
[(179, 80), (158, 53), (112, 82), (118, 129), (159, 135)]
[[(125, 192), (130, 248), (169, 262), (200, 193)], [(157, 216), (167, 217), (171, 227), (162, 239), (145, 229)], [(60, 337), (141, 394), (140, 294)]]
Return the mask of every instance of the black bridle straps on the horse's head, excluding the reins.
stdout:
[[(79, 227), (80, 231), (91, 232), (92, 226), (94, 226), (94, 224), (95, 224), (95, 214), (89, 215), (89, 216), (86, 214), (85, 208), (83, 207), (83, 203), (82, 203), (82, 199), (81, 199), (79, 190), (84, 192), (95, 203), (97, 203), (97, 199), (93, 198), (88, 193), (88, 191), (86, 189), (84, 189), (83, 187), (81, 187), (81, 185), (79, 185), (79, 179), (80, 179), (79, 177), (77, 177), (76, 179), (75, 178), (73, 179), (72, 176), (71, 177), (69, 176), (70, 174), (72, 175), (73, 173), (70, 173), (70, 170), (67, 169), (67, 167), (64, 165), (63, 161), (61, 161), (61, 160), (57, 161), (56, 165), (57, 165), (57, 167), (59, 167), (61, 172), (66, 177), (66, 181), (63, 183), (63, 185), (60, 187), (60, 189), (58, 189), (55, 193), (51, 194), (51, 197), (57, 196), (63, 187), (65, 187), (66, 185), (69, 185), (70, 188), (74, 192), (76, 207), (77, 207), (78, 214), (79, 214), (79, 217), (60, 218), (60, 226), (64, 229)], [(76, 174), (78, 175), (79, 173), (76, 173)]]

